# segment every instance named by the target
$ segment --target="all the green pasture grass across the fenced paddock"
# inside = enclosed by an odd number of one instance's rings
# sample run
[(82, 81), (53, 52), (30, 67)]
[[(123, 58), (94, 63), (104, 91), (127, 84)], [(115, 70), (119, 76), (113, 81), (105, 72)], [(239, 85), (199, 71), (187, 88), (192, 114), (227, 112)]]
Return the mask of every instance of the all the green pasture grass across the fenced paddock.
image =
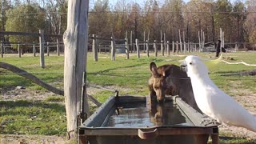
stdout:
[[(214, 53), (197, 54), (204, 58), (214, 59)], [(234, 58), (230, 62), (247, 62), (256, 64), (255, 52), (238, 52), (230, 53), (228, 56)], [(149, 90), (147, 88), (147, 81), (150, 77), (150, 62), (156, 62), (157, 66), (164, 64), (179, 65), (178, 60), (182, 60), (184, 56), (170, 56), (154, 58), (136, 58), (130, 56), (127, 60), (125, 57), (120, 57), (117, 54), (116, 61), (110, 60), (110, 54), (99, 54), (98, 62), (93, 61), (92, 54), (88, 54), (87, 62), (87, 76), (86, 82), (97, 84), (100, 86), (110, 86), (113, 89), (120, 89), (120, 95), (147, 95)], [(10, 63), (18, 66), (22, 70), (26, 70), (50, 83), (52, 86), (63, 89), (63, 56), (45, 57), (46, 68), (42, 69), (39, 66), (38, 57), (22, 58), (8, 56), (1, 58), (2, 62)], [(242, 90), (250, 90), (256, 93), (256, 78), (254, 76), (221, 76), (221, 74), (230, 74), (242, 72), (245, 70), (255, 70), (255, 66), (242, 65), (227, 65), (224, 62), (218, 64), (209, 64), (210, 78), (222, 90), (226, 91), (231, 96), (234, 95), (230, 86)], [(37, 86), (33, 82), (25, 78), (12, 74), (8, 70), (0, 69), (0, 90), (14, 90), (16, 86), (26, 86), (27, 90), (37, 90), (41, 94), (46, 92), (41, 86)], [(113, 92), (99, 91), (93, 94), (99, 102), (105, 102), (107, 98), (114, 95)], [(240, 95), (243, 95), (242, 93)], [(50, 96), (42, 101), (12, 101), (5, 102), (0, 100), (0, 122), (6, 122), (2, 127), (1, 134), (66, 134), (66, 113), (65, 106), (62, 105), (64, 98), (62, 96)], [(95, 106), (91, 106), (90, 110), (93, 112)], [(222, 143), (250, 143), (246, 138), (235, 138), (229, 134), (221, 134)]]

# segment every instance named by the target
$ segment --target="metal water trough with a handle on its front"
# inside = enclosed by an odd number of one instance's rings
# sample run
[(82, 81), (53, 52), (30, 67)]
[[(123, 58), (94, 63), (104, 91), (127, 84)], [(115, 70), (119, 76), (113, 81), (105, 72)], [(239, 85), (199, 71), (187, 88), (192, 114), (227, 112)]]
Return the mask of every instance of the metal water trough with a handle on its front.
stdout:
[[(168, 104), (175, 106), (174, 110), (164, 111), (161, 106), (154, 109), (154, 106), (149, 107), (147, 104), (146, 97), (110, 97), (82, 126), (78, 127), (79, 142), (90, 144), (206, 144), (211, 136), (212, 143), (218, 143), (218, 126), (202, 126), (202, 118), (206, 116), (198, 113), (181, 98), (173, 98), (171, 104)], [(150, 120), (142, 119), (144, 117), (142, 114), (131, 114), (122, 119), (122, 110), (129, 110), (129, 108), (133, 110), (133, 106), (142, 106), (139, 110), (146, 110), (145, 107), (147, 107), (148, 114), (144, 116), (149, 117)], [(177, 116), (177, 111), (182, 117)], [(121, 118), (124, 125), (110, 126), (109, 121), (113, 116)], [(162, 120), (166, 117), (170, 119), (169, 124), (164, 122), (166, 120)], [(174, 119), (177, 117), (184, 117), (185, 124), (171, 122), (176, 121)], [(142, 126), (138, 125), (141, 121), (146, 121), (146, 124), (143, 126), (142, 122)]]

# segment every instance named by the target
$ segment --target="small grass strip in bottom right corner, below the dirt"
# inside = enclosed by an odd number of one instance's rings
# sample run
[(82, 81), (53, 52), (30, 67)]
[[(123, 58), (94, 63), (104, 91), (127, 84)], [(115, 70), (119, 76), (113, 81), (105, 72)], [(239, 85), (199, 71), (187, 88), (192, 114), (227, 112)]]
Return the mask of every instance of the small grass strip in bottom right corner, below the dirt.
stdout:
[(220, 144), (256, 144), (255, 140), (250, 140), (247, 138), (237, 138), (237, 137), (219, 137)]

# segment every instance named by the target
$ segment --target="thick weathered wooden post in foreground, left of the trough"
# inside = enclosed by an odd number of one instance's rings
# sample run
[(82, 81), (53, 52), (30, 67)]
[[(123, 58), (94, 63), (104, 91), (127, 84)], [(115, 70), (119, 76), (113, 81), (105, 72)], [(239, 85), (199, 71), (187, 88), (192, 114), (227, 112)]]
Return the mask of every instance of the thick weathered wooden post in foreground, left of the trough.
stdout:
[(88, 10), (89, 1), (68, 1), (67, 26), (63, 34), (67, 136), (74, 140), (78, 138), (78, 126), (89, 116), (86, 85), (82, 83), (86, 75)]

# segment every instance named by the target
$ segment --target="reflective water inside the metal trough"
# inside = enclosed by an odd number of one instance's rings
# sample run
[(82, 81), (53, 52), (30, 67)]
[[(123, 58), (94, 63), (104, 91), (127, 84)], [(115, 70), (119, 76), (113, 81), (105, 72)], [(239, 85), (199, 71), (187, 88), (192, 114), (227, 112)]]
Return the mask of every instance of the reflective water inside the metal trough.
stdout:
[(147, 126), (194, 126), (189, 118), (173, 102), (134, 102), (116, 106), (106, 122), (106, 127), (147, 127)]

